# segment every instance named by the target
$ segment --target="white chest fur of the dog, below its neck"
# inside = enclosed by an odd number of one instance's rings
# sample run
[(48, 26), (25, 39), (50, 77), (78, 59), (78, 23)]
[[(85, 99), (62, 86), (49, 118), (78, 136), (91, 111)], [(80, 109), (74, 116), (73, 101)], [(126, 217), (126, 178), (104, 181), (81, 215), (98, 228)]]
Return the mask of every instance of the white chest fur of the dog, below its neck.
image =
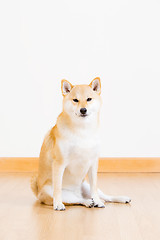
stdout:
[(60, 143), (67, 167), (63, 176), (63, 186), (73, 188), (80, 185), (93, 161), (99, 153), (98, 136), (94, 131), (78, 131), (75, 134), (67, 133)]

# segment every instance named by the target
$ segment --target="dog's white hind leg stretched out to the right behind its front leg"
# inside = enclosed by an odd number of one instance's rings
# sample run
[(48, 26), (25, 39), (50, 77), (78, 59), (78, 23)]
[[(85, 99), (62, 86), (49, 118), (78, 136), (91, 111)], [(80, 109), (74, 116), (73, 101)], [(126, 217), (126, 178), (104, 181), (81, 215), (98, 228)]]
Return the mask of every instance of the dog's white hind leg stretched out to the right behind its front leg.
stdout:
[[(82, 183), (82, 195), (83, 197), (90, 198), (90, 185), (84, 181)], [(129, 203), (131, 199), (127, 196), (109, 196), (104, 194), (100, 189), (98, 189), (99, 197), (105, 202), (115, 202), (115, 203)]]

